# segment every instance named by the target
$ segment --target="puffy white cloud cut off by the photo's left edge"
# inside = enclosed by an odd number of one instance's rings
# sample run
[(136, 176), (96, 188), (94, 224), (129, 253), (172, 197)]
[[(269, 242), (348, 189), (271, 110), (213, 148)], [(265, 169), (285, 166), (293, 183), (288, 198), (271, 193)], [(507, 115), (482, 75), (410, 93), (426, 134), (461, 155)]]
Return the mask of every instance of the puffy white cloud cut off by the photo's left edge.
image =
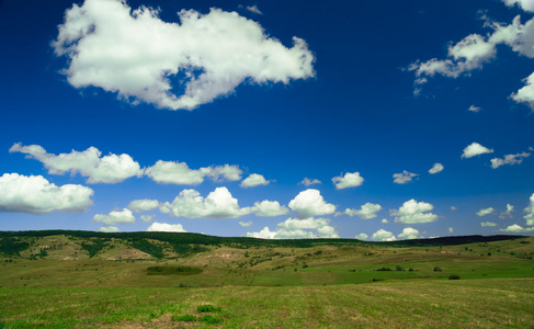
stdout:
[(82, 185), (57, 186), (42, 175), (4, 173), (0, 177), (0, 212), (82, 212), (92, 205), (93, 194), (93, 190)]

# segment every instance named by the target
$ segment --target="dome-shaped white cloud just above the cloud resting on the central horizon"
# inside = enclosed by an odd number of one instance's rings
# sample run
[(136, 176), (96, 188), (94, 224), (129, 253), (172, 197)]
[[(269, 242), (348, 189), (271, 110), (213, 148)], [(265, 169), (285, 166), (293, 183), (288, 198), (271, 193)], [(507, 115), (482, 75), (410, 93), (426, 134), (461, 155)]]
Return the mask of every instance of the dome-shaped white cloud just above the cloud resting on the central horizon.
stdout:
[(325, 202), (319, 190), (308, 189), (298, 193), (289, 204), (289, 208), (297, 212), (298, 218), (308, 218), (314, 216), (322, 216), (336, 212), (336, 206)]

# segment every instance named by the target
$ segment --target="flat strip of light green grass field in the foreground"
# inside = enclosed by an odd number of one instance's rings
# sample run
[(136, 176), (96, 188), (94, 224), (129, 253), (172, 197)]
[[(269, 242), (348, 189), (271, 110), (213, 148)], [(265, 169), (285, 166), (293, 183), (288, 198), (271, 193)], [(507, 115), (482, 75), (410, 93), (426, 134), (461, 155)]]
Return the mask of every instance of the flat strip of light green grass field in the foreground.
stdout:
[[(397, 281), (373, 284), (209, 288), (7, 288), (7, 328), (530, 328), (534, 280)], [(216, 311), (200, 311), (211, 305)], [(220, 309), (219, 309), (220, 308)], [(189, 321), (189, 320), (188, 320)]]

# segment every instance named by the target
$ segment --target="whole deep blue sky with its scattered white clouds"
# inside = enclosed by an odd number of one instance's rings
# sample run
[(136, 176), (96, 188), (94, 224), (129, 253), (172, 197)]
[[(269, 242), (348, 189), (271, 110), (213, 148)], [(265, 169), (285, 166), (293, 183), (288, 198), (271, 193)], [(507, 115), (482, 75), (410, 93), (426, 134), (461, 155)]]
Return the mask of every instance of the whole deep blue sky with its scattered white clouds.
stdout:
[(533, 13), (2, 1), (0, 230), (532, 236)]

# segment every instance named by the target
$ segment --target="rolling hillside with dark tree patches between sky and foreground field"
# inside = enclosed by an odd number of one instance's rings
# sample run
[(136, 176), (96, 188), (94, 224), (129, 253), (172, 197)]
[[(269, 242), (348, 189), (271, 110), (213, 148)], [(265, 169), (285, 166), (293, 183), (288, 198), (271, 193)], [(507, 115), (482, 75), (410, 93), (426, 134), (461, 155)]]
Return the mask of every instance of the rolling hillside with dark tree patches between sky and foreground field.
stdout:
[(11, 287), (330, 285), (390, 280), (534, 277), (534, 238), (395, 242), (262, 240), (196, 234), (0, 232)]

